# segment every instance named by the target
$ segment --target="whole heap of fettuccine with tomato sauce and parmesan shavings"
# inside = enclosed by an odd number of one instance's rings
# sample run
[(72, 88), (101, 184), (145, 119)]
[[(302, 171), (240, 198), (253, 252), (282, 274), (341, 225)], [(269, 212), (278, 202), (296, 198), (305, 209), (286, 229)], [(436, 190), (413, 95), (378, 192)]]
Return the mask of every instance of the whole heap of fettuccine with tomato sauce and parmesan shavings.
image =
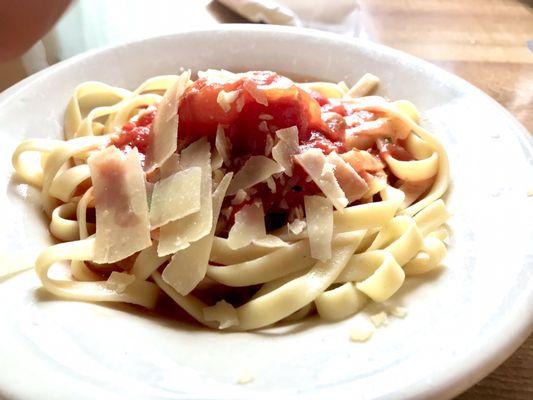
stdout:
[(224, 70), (82, 83), (64, 140), (13, 154), (59, 240), (35, 262), (42, 285), (145, 308), (168, 296), (239, 331), (388, 300), (446, 254), (448, 160), (378, 84)]

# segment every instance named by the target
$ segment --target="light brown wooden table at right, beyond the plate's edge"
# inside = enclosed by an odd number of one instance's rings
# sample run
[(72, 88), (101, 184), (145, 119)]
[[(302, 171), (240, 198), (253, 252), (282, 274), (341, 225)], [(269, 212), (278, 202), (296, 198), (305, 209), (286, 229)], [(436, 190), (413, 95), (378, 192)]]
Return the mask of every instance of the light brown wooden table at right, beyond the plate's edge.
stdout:
[[(360, 0), (371, 40), (474, 84), (533, 132), (533, 1)], [(460, 400), (533, 399), (533, 336)]]

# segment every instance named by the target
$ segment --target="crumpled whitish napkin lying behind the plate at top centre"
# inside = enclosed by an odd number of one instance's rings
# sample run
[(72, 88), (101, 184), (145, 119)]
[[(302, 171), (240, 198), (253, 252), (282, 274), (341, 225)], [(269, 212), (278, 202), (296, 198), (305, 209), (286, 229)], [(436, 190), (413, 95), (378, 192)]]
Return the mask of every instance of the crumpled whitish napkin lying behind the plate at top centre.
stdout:
[(252, 22), (306, 26), (353, 34), (357, 0), (218, 0)]

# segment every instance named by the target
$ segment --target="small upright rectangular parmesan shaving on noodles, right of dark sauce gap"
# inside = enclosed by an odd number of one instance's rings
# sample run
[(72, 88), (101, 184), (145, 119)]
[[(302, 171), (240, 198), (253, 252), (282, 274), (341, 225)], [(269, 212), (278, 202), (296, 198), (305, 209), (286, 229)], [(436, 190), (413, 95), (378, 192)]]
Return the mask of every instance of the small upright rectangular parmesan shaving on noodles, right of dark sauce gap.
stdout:
[(331, 203), (322, 196), (305, 196), (304, 205), (311, 257), (320, 261), (329, 260), (333, 238)]

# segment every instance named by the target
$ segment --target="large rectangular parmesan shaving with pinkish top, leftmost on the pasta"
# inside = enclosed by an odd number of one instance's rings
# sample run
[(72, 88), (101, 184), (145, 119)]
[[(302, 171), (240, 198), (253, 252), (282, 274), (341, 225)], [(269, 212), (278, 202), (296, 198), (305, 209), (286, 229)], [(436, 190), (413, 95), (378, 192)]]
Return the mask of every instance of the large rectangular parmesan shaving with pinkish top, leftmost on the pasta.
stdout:
[(115, 146), (88, 159), (96, 210), (93, 261), (112, 263), (152, 244), (148, 201), (137, 149), (124, 155)]

